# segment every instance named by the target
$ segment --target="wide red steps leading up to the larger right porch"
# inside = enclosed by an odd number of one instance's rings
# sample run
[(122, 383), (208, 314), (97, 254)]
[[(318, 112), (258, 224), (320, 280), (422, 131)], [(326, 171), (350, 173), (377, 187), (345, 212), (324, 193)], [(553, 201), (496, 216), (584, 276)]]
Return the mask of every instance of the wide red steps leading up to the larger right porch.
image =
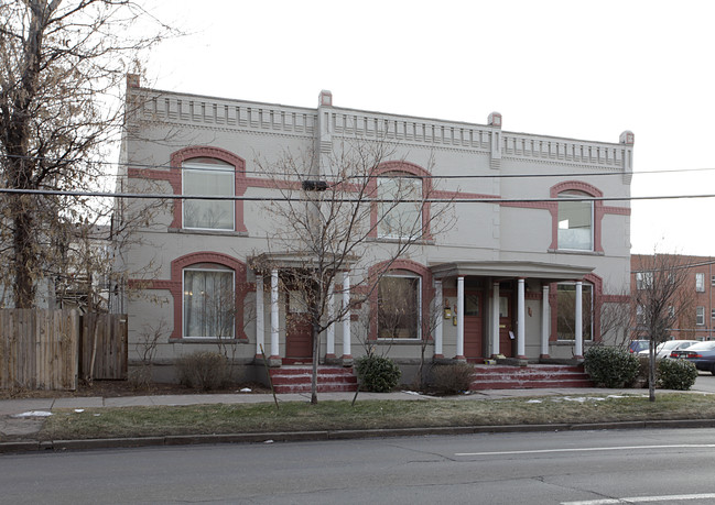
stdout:
[(573, 365), (475, 365), (472, 391), (530, 389), (537, 387), (594, 387), (583, 366)]

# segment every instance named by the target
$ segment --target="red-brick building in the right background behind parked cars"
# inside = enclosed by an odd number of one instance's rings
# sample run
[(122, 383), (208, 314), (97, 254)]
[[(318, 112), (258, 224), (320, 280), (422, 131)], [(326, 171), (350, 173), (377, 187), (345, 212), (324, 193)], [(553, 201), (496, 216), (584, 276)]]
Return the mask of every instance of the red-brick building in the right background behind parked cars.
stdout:
[[(713, 340), (715, 339), (715, 260), (712, 256), (687, 256), (687, 255), (672, 255), (673, 265), (681, 265), (687, 268), (685, 283), (681, 289), (686, 296), (679, 296), (678, 298), (685, 299), (687, 307), (682, 309), (676, 325), (670, 328), (670, 338), (679, 340)], [(642, 288), (643, 282), (643, 266), (649, 264), (652, 255), (647, 254), (632, 254), (630, 259), (631, 265), (631, 283), (630, 288), (633, 295), (639, 288)], [(636, 308), (638, 310), (638, 308)], [(638, 328), (633, 338), (646, 338)]]

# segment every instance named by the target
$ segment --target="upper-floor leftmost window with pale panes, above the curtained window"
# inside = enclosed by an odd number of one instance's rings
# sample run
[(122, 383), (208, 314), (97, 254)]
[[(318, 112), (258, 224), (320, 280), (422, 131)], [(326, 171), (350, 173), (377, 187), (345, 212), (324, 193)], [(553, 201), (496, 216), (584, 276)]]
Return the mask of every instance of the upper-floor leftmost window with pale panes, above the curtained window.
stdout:
[[(184, 163), (182, 169), (182, 190), (192, 196), (235, 195), (234, 166), (223, 162)], [(227, 200), (184, 200), (184, 228), (197, 230), (234, 230), (235, 201)]]

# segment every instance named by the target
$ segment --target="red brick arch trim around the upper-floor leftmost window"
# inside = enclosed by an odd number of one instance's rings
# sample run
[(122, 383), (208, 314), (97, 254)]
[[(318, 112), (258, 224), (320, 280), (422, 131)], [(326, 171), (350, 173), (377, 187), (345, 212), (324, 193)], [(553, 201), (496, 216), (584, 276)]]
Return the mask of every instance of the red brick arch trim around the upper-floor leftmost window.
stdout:
[[(181, 171), (183, 164), (191, 162), (195, 158), (213, 158), (221, 161), (234, 167), (234, 195), (243, 196), (246, 194), (247, 180), (246, 180), (246, 161), (220, 147), (212, 147), (206, 145), (195, 145), (191, 147), (181, 149), (171, 155), (171, 172), (172, 176), (170, 184), (174, 191), (174, 195), (182, 195), (182, 176)], [(174, 175), (175, 174), (175, 175)], [(174, 200), (174, 216), (169, 228), (181, 229), (183, 226), (183, 200)], [(235, 200), (234, 201), (234, 222), (235, 231), (246, 232), (246, 224), (243, 222), (243, 201)]]

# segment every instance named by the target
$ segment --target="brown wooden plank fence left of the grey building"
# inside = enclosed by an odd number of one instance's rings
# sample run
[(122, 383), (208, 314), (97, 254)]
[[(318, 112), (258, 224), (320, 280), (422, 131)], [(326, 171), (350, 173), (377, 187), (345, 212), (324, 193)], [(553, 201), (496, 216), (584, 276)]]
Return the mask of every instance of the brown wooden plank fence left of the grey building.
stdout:
[(127, 354), (126, 315), (0, 309), (0, 388), (76, 389), (78, 377), (127, 378)]

